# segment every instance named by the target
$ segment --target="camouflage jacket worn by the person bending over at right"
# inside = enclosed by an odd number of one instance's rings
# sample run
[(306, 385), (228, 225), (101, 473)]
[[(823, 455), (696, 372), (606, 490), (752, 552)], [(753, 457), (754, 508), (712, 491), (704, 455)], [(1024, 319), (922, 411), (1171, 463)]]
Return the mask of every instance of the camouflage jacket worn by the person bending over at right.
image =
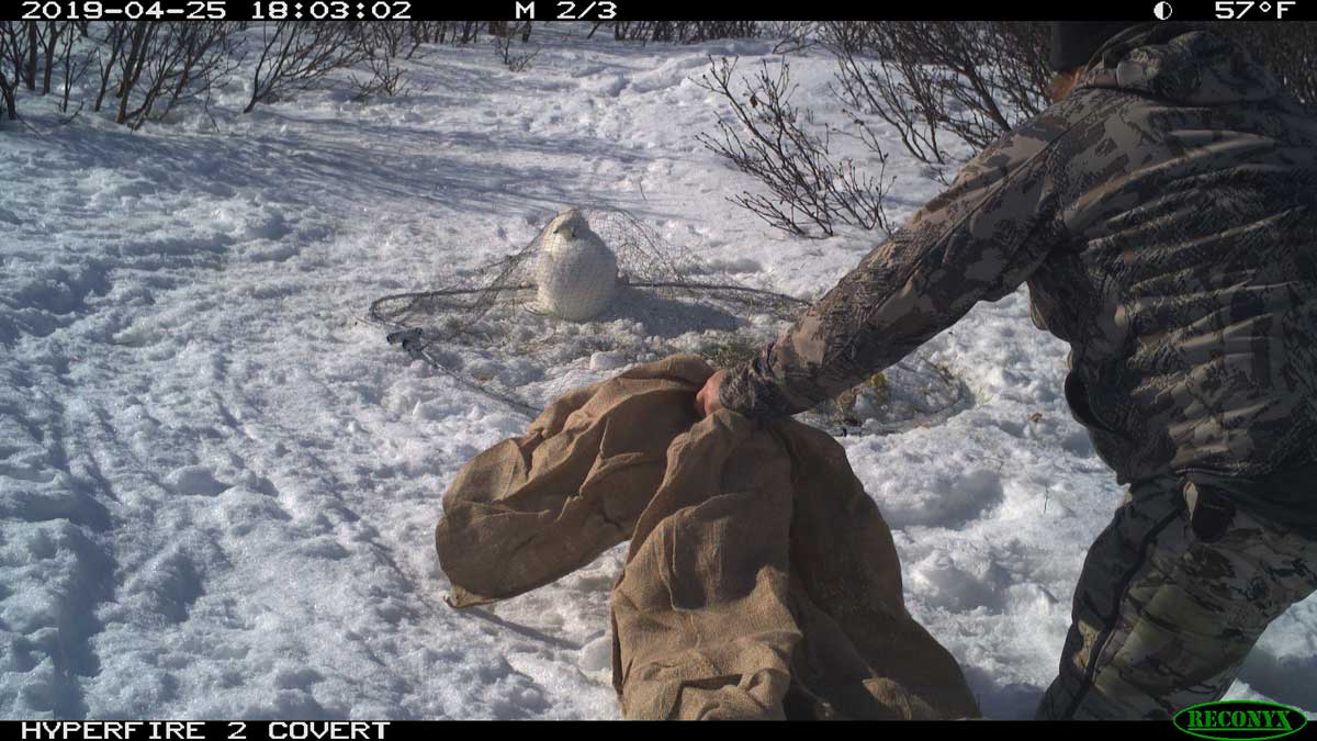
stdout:
[(1247, 50), (1183, 24), (1110, 40), (1069, 95), (731, 369), (720, 401), (813, 407), (1026, 282), (1122, 483), (1314, 458), (1317, 119)]

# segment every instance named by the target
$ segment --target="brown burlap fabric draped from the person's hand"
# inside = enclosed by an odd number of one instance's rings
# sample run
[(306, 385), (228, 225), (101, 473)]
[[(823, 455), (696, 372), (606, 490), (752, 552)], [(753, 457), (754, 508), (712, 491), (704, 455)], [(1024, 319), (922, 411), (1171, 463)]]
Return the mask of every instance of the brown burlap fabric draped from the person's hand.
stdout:
[(905, 609), (892, 534), (846, 451), (793, 419), (697, 419), (695, 356), (637, 365), (477, 455), (435, 531), (453, 607), (631, 539), (612, 587), (630, 719), (947, 719), (979, 708)]

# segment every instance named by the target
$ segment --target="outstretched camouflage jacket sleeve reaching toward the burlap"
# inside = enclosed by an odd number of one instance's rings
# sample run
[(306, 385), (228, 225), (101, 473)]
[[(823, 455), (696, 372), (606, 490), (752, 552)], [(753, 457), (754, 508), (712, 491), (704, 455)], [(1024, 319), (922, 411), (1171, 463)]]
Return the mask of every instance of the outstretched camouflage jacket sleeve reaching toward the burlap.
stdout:
[(1067, 128), (1044, 112), (971, 160), (756, 359), (731, 368), (723, 406), (756, 418), (805, 411), (1019, 287), (1060, 239), (1051, 173)]

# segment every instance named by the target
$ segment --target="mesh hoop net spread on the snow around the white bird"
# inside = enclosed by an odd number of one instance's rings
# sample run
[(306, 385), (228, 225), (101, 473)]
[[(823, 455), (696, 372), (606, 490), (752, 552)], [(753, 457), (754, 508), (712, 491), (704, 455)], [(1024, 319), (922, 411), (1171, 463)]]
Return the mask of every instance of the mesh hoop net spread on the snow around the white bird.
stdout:
[[(809, 307), (740, 285), (624, 210), (579, 211), (618, 258), (618, 293), (593, 319), (562, 319), (537, 301), (536, 264), (551, 222), (525, 248), (441, 287), (374, 301), (369, 320), (390, 330), (391, 344), (462, 385), (539, 414), (558, 396), (633, 363), (694, 353), (714, 367), (735, 365)], [(889, 368), (884, 381), (853, 407), (828, 402), (802, 421), (840, 434), (896, 431), (954, 414), (968, 398), (961, 384), (917, 355)]]

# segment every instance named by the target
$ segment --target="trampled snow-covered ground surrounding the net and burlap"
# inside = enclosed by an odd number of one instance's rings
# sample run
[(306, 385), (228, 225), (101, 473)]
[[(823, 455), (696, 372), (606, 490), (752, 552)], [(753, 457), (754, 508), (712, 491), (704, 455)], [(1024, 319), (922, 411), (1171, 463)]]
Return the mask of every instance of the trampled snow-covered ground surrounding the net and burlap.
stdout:
[[(574, 203), (632, 210), (806, 298), (874, 243), (788, 239), (726, 200), (757, 186), (695, 141), (722, 103), (691, 78), (710, 54), (780, 63), (770, 42), (539, 41), (520, 74), (487, 47), (433, 47), (411, 65), (429, 90), (406, 98), (308, 92), (241, 115), (240, 82), (209, 115), (136, 134), (20, 100), (30, 128), (0, 129), (0, 715), (616, 717), (620, 548), (449, 609), (440, 494), (529, 419), (358, 319)], [(830, 62), (790, 63), (794, 100), (822, 111)], [(892, 153), (903, 216), (940, 186)], [(1122, 492), (1023, 293), (930, 348), (975, 405), (842, 443), (893, 527), (911, 612), (989, 716), (1029, 717)], [(1309, 599), (1230, 696), (1317, 711), (1314, 636)]]

